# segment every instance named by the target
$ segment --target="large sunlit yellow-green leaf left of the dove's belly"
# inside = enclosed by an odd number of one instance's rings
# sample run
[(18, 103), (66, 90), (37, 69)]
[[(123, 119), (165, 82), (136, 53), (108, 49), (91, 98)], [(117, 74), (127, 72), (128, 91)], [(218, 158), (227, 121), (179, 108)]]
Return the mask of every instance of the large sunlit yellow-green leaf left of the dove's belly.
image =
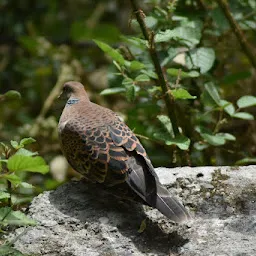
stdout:
[(8, 160), (7, 168), (11, 171), (39, 172), (42, 174), (49, 171), (49, 166), (40, 156), (13, 155)]

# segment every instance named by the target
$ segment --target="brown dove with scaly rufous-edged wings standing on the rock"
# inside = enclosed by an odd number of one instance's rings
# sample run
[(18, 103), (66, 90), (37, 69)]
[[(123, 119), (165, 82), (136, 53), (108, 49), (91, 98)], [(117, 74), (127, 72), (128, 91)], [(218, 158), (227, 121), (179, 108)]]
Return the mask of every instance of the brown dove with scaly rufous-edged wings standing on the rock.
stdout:
[(173, 222), (190, 219), (186, 208), (159, 181), (139, 139), (112, 110), (90, 101), (84, 85), (70, 81), (58, 124), (60, 146), (71, 167), (91, 183), (128, 188)]

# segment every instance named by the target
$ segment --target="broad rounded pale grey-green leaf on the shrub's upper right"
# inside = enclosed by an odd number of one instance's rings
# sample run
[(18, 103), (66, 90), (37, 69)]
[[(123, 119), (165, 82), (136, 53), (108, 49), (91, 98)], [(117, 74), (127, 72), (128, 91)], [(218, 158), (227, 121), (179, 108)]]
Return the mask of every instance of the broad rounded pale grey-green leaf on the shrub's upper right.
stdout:
[(212, 48), (197, 48), (186, 54), (186, 65), (188, 69), (199, 68), (202, 74), (209, 71), (215, 61), (215, 52)]

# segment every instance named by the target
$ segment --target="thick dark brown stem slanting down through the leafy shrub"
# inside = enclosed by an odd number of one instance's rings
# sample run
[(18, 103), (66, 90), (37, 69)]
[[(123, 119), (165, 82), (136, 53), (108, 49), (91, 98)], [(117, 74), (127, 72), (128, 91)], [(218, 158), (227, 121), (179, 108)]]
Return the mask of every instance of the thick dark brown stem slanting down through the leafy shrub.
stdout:
[(167, 82), (165, 81), (163, 70), (160, 65), (160, 62), (159, 62), (159, 59), (157, 56), (157, 52), (156, 52), (154, 33), (147, 28), (147, 26), (144, 22), (144, 13), (137, 6), (137, 1), (136, 0), (130, 0), (130, 1), (131, 1), (133, 12), (136, 16), (136, 19), (140, 25), (140, 29), (143, 33), (143, 36), (149, 43), (149, 54), (150, 54), (151, 60), (154, 64), (155, 71), (158, 75), (158, 82), (163, 91), (163, 96), (164, 96), (165, 104), (167, 107), (168, 116), (172, 122), (172, 128), (173, 128), (174, 135), (176, 136), (179, 134), (179, 129), (178, 129), (177, 118), (176, 118), (176, 114), (175, 114), (175, 101), (174, 101), (173, 96), (170, 93), (168, 93), (169, 88), (168, 88)]

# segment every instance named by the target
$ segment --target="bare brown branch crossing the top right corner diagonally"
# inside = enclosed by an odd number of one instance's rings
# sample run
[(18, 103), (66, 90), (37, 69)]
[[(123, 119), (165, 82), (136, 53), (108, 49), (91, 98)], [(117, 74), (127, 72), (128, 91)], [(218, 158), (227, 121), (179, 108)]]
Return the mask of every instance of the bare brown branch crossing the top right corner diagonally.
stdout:
[(217, 0), (220, 8), (222, 9), (223, 13), (225, 14), (233, 32), (235, 33), (242, 50), (247, 55), (248, 59), (250, 60), (252, 66), (256, 69), (256, 56), (254, 49), (251, 47), (251, 45), (247, 42), (245, 35), (243, 34), (243, 31), (241, 30), (239, 24), (236, 22), (236, 20), (233, 18), (229, 6), (227, 4), (226, 0)]

